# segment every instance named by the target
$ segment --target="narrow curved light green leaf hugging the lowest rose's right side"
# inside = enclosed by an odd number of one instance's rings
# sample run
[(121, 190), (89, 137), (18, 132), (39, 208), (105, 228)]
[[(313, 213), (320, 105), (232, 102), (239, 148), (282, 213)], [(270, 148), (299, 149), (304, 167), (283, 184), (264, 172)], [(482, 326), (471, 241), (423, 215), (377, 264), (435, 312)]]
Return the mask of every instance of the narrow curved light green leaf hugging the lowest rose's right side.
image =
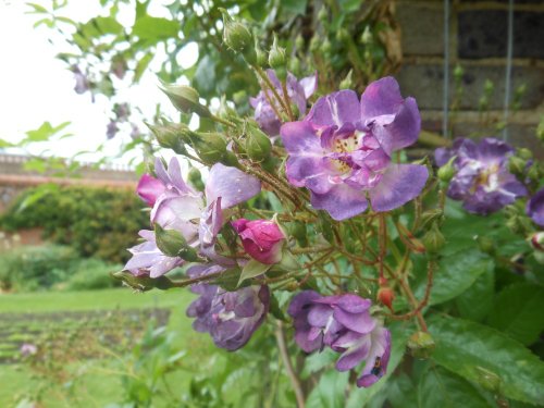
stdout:
[(411, 334), (410, 326), (406, 323), (394, 323), (388, 326), (391, 331), (392, 348), (390, 363), (387, 364), (387, 373), (380, 379), (379, 382), (368, 388), (355, 388), (347, 399), (346, 408), (364, 407), (374, 395), (387, 386), (388, 379), (400, 363), (405, 355), (406, 342)]

